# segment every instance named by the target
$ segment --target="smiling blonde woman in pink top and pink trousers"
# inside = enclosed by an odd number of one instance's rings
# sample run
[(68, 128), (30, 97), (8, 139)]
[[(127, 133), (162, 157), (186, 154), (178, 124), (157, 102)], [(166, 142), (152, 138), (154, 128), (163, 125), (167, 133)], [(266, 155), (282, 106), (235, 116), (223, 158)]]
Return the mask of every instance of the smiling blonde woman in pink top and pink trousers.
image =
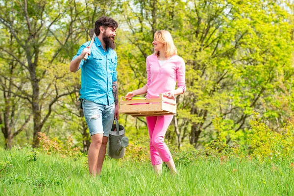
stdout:
[[(146, 59), (147, 84), (141, 89), (128, 92), (125, 95), (127, 99), (145, 93), (147, 93), (146, 98), (159, 98), (159, 94), (174, 98), (175, 95), (186, 91), (185, 62), (177, 55), (171, 33), (166, 30), (155, 32), (152, 44), (154, 53)], [(156, 173), (161, 173), (162, 162), (168, 165), (172, 173), (176, 173), (171, 152), (164, 143), (164, 136), (172, 122), (172, 117), (173, 115), (146, 117), (151, 164)]]

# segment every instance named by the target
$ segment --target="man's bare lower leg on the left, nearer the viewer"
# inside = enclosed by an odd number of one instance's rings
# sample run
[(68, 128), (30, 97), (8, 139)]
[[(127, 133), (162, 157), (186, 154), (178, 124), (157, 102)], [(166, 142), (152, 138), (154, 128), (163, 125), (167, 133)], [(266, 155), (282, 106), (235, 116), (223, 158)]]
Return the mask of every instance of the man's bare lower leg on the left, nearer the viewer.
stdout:
[(98, 133), (91, 136), (91, 144), (88, 151), (88, 166), (89, 172), (96, 176), (98, 155), (102, 145), (103, 133)]

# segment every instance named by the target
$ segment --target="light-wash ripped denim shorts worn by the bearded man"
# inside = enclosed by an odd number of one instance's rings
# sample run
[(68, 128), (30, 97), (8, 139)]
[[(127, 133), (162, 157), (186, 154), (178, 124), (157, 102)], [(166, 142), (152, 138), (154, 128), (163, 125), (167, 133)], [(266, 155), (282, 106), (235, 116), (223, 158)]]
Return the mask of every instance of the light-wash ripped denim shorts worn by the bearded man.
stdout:
[(102, 105), (83, 99), (83, 111), (89, 127), (90, 135), (103, 133), (109, 137), (114, 121), (115, 104)]

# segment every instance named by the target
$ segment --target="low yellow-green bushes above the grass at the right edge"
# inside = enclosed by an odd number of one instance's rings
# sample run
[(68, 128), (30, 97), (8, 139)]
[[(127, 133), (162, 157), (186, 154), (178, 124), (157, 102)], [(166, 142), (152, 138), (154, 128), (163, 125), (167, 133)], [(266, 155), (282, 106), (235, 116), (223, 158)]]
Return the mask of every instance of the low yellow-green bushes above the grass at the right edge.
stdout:
[[(226, 127), (221, 118), (213, 120), (218, 133), (217, 139), (206, 145), (206, 150), (214, 150), (215, 156), (254, 158), (260, 162), (293, 161), (294, 129), (291, 123), (285, 124), (282, 131), (271, 130), (254, 113), (250, 121), (252, 129), (246, 134), (227, 143)], [(212, 151), (213, 152), (213, 151)]]

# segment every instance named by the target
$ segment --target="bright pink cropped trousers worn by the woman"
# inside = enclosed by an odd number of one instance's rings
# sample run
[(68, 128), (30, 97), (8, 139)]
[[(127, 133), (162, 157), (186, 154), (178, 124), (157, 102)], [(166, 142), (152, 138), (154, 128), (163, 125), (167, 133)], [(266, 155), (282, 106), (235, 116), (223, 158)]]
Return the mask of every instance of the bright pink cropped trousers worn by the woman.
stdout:
[(152, 165), (172, 160), (172, 155), (164, 143), (164, 135), (172, 122), (173, 115), (146, 117), (150, 138), (150, 158)]

